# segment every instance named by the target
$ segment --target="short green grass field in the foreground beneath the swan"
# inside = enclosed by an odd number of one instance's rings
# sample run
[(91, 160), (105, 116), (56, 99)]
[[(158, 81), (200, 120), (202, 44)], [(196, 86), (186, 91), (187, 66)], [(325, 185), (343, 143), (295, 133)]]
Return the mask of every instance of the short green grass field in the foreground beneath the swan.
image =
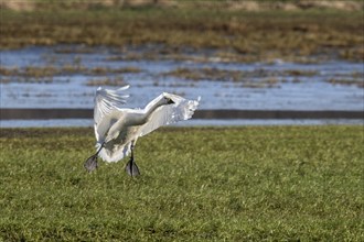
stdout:
[(87, 174), (92, 129), (1, 129), (3, 241), (363, 241), (363, 127), (169, 128)]

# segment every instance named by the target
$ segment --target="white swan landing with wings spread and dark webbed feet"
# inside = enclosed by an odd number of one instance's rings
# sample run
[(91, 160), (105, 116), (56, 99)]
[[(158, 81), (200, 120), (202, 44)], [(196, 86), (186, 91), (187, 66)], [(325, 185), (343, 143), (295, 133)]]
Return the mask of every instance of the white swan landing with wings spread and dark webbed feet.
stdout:
[(95, 97), (94, 128), (96, 153), (85, 162), (88, 172), (97, 168), (97, 156), (111, 163), (118, 162), (131, 152), (126, 172), (130, 176), (140, 175), (133, 162), (133, 146), (143, 136), (159, 127), (191, 119), (197, 100), (186, 100), (180, 96), (163, 92), (149, 102), (144, 109), (121, 108), (128, 95), (122, 94), (129, 86), (116, 90), (98, 88)]

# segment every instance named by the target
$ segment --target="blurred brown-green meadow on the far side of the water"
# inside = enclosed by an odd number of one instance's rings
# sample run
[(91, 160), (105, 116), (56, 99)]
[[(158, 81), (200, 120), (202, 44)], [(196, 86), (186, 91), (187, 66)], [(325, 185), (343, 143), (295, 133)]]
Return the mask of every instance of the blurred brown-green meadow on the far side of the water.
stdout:
[(213, 48), (221, 50), (222, 57), (237, 55), (240, 62), (297, 61), (297, 56), (312, 55), (364, 58), (363, 10), (239, 11), (218, 4), (74, 10), (44, 6), (50, 8), (1, 10), (0, 47), (161, 44), (163, 53)]

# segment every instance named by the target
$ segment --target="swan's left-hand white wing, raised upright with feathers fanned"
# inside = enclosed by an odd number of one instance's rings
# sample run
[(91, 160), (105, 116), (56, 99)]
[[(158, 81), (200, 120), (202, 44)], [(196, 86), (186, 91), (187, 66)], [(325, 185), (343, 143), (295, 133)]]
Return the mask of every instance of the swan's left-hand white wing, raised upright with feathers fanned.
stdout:
[(116, 90), (104, 89), (101, 87), (97, 88), (94, 108), (94, 128), (97, 141), (110, 128), (111, 120), (108, 120), (108, 117), (111, 111), (126, 103), (129, 96), (125, 95), (124, 90), (128, 88), (129, 85)]

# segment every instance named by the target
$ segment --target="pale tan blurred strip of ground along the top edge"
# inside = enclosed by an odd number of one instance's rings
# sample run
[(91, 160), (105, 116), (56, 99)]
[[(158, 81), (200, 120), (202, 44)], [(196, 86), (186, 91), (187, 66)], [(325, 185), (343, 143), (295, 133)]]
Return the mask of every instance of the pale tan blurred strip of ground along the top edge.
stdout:
[(176, 0), (74, 0), (40, 2), (35, 0), (1, 0), (0, 7), (15, 11), (33, 11), (39, 8), (62, 8), (62, 9), (92, 9), (92, 8), (143, 8), (143, 7), (162, 7), (162, 8), (218, 8), (226, 10), (244, 10), (244, 11), (267, 11), (267, 10), (307, 10), (307, 9), (336, 9), (343, 11), (360, 11), (364, 8), (364, 2), (353, 0), (298, 0), (298, 1), (176, 1)]

